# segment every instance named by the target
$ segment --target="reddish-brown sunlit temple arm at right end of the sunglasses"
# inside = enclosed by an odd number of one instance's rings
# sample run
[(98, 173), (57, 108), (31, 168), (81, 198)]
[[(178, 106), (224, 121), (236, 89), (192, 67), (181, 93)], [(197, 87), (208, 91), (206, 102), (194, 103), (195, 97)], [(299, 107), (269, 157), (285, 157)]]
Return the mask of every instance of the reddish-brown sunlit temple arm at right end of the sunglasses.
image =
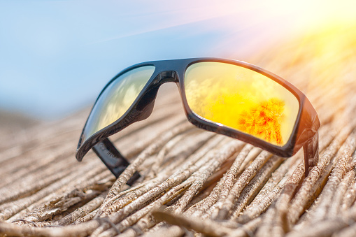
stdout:
[(309, 139), (303, 146), (304, 150), (304, 166), (305, 177), (308, 176), (309, 171), (313, 168), (319, 160), (319, 135), (318, 131)]

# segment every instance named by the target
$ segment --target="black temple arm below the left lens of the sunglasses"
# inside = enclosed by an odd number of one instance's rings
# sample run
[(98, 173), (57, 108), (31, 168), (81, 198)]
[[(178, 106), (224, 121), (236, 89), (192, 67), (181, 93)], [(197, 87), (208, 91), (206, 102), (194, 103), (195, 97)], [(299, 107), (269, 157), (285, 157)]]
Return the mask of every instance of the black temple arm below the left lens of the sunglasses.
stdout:
[[(116, 178), (129, 166), (129, 161), (121, 155), (108, 138), (94, 145), (92, 149)], [(127, 185), (133, 185), (140, 177), (141, 175), (136, 171), (129, 181), (127, 181)]]

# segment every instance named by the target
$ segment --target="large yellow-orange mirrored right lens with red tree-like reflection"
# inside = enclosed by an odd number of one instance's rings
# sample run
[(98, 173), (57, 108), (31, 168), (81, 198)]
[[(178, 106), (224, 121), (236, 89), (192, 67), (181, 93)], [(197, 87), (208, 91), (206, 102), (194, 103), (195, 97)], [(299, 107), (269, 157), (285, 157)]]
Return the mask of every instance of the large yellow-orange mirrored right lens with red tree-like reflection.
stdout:
[(297, 120), (299, 101), (261, 73), (220, 62), (192, 64), (185, 72), (185, 96), (204, 120), (283, 146)]

